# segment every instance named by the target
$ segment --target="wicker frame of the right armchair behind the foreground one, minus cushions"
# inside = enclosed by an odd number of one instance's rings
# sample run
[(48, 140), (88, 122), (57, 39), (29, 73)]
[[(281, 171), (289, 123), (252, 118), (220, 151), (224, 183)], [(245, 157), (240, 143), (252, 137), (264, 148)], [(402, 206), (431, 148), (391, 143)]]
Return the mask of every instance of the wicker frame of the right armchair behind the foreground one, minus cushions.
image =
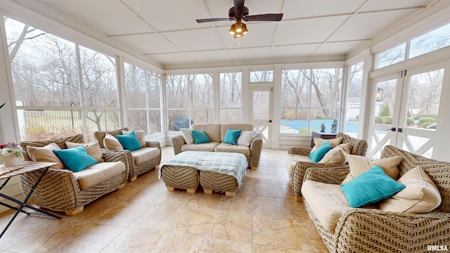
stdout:
[[(367, 141), (360, 140), (348, 136), (347, 134), (339, 133), (336, 138), (344, 138), (342, 143), (352, 144), (352, 155), (366, 156), (367, 151)], [(311, 153), (311, 148), (290, 148), (288, 154), (292, 155), (304, 155), (308, 156)], [(348, 164), (319, 164), (315, 162), (297, 162), (295, 168), (293, 169), (292, 175), (292, 186), (293, 193), (297, 201), (302, 201), (302, 183), (304, 178), (304, 173), (308, 168), (333, 168), (333, 169), (348, 169)]]

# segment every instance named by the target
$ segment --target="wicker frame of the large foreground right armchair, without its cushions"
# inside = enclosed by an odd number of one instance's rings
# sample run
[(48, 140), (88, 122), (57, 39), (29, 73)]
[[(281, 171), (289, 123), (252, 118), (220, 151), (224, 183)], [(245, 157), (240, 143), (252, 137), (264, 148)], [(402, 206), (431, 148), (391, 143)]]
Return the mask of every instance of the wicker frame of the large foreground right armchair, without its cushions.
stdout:
[[(394, 156), (401, 157), (399, 177), (410, 169), (422, 167), (439, 189), (441, 205), (424, 214), (349, 208), (340, 216), (334, 233), (330, 233), (321, 226), (304, 199), (304, 207), (330, 252), (428, 252), (431, 245), (450, 246), (450, 162), (385, 146), (381, 158)], [(307, 169), (304, 180), (340, 184), (348, 173), (348, 169)]]

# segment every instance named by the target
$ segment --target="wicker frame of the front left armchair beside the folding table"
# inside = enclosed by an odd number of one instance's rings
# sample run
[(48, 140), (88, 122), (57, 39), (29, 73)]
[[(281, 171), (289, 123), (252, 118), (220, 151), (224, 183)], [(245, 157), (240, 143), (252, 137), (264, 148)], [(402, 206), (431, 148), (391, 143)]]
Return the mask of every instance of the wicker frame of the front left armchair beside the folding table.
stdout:
[[(56, 143), (60, 148), (67, 148), (65, 145), (66, 141), (84, 143), (83, 135), (77, 134), (75, 136), (49, 141), (23, 141), (20, 145), (24, 150), (27, 150), (27, 146), (44, 147), (50, 143)], [(124, 162), (124, 164), (129, 163), (128, 157), (120, 153), (103, 153), (102, 158), (105, 162), (120, 161)], [(30, 160), (27, 154), (25, 154), (25, 160)], [(30, 193), (31, 188), (41, 174), (42, 171), (31, 171), (20, 175), (20, 188), (25, 195)], [(128, 174), (129, 168), (125, 166), (125, 171), (122, 174), (113, 176), (107, 181), (82, 190), (74, 172), (68, 169), (50, 168), (44, 178), (42, 178), (39, 186), (34, 190), (30, 200), (39, 207), (57, 212), (65, 212), (65, 214), (72, 216), (82, 212), (84, 205), (93, 202), (106, 193), (124, 187), (125, 183), (127, 183)]]

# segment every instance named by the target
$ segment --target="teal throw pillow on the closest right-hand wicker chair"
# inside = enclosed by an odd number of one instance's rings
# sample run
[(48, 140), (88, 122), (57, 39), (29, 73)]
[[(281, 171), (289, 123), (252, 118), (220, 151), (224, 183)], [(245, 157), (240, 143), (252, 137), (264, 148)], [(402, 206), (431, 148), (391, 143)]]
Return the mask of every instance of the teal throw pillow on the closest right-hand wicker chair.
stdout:
[(406, 186), (387, 176), (378, 165), (340, 186), (350, 207), (364, 207), (392, 197)]

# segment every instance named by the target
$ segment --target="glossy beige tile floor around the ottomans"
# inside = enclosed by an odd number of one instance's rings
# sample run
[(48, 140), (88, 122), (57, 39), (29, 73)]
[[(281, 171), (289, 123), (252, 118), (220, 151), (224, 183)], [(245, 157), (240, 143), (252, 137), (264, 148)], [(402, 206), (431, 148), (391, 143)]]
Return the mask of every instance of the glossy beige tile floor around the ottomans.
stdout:
[[(328, 252), (284, 167), (286, 150), (263, 150), (234, 197), (167, 191), (153, 170), (76, 216), (19, 214), (0, 252)], [(162, 151), (162, 162), (174, 155)], [(0, 214), (0, 228), (13, 212)]]

